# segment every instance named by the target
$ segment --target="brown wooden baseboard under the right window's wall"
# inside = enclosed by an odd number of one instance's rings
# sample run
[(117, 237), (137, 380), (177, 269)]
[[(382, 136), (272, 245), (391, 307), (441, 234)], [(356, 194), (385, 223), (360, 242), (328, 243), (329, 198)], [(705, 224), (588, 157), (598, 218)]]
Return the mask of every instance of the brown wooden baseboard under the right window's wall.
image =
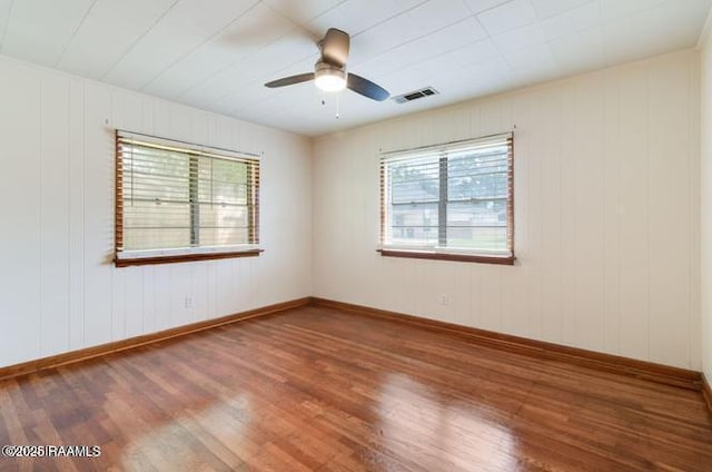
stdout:
[[(363, 315), (386, 318), (398, 323), (417, 325), (432, 331), (447, 332), (474, 340), (477, 344), (487, 345), (513, 353), (526, 354), (534, 357), (550, 361), (565, 362), (581, 365), (609, 373), (623, 374), (632, 377), (673, 385), (682, 389), (700, 391), (702, 390), (702, 374), (686, 368), (671, 367), (652, 362), (637, 361), (613, 354), (603, 354), (594, 351), (577, 347), (563, 346), (560, 344), (535, 341), (526, 337), (513, 336), (486, 330), (461, 326), (452, 323), (438, 322), (419, 316), (406, 315), (403, 313), (388, 312), (385, 309), (372, 308), (350, 303), (336, 302), (313, 297), (314, 305), (336, 308), (344, 312), (358, 313)], [(709, 384), (706, 384), (709, 389)], [(712, 391), (706, 392), (708, 404), (712, 399)]]

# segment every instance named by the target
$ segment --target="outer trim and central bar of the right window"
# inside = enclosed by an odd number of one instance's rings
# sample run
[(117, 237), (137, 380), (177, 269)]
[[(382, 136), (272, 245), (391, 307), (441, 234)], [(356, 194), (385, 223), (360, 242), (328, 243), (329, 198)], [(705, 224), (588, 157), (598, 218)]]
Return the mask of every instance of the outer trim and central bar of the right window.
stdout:
[[(439, 153), (445, 156), (447, 153), (456, 150), (458, 147), (466, 146), (468, 144), (477, 144), (477, 141), (486, 142), (487, 140), (506, 138), (510, 141), (508, 156), (507, 156), (507, 246), (510, 248), (508, 255), (487, 255), (486, 253), (474, 253), (466, 249), (448, 249), (446, 247), (424, 248), (424, 247), (407, 247), (403, 245), (386, 245), (384, 244), (387, 234), (387, 183), (385, 181), (386, 173), (384, 171), (384, 165), (389, 158), (397, 156), (407, 156), (409, 154), (419, 153)], [(414, 156), (415, 157), (415, 156)], [(441, 158), (441, 179), (443, 178), (443, 165)], [(445, 157), (446, 159), (446, 157)], [(496, 265), (515, 265), (516, 256), (514, 252), (514, 132), (504, 132), (496, 135), (482, 136), (473, 139), (463, 139), (457, 141), (444, 142), (433, 146), (422, 146), (411, 149), (400, 149), (395, 151), (382, 153), (379, 156), (379, 183), (380, 183), (380, 238), (379, 247), (376, 249), (384, 257), (403, 257), (403, 258), (416, 258), (416, 259), (434, 259), (434, 260), (454, 260), (454, 262), (467, 262), (467, 263), (482, 263), (482, 264), (496, 264)], [(445, 178), (447, 181), (447, 178)], [(443, 188), (441, 186), (441, 196), (438, 198), (438, 206), (446, 204), (447, 199), (443, 200)], [(445, 197), (447, 196), (445, 189)], [(438, 219), (442, 216), (438, 212)], [(442, 239), (441, 223), (438, 222), (438, 239)]]

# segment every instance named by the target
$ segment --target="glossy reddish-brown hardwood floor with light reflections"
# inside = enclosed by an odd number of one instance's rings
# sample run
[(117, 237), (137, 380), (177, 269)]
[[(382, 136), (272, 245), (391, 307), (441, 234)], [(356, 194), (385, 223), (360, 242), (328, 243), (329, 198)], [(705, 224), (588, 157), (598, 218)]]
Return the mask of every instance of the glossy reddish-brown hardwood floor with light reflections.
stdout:
[(712, 470), (700, 392), (308, 306), (0, 383), (0, 470)]

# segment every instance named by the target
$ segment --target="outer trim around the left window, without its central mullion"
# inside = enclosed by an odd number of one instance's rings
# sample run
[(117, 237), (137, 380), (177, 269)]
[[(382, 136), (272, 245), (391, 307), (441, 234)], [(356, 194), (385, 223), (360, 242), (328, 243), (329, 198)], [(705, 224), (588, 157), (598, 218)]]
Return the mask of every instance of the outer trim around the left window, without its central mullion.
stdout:
[[(128, 267), (138, 265), (156, 265), (172, 264), (197, 260), (212, 260), (235, 257), (256, 257), (265, 252), (259, 246), (259, 171), (251, 175), (248, 169), (248, 180), (254, 179), (255, 185), (248, 185), (248, 198), (254, 204), (249, 206), (249, 218), (253, 227), (249, 234), (254, 238), (254, 243), (233, 245), (233, 246), (196, 246), (196, 247), (176, 247), (176, 248), (156, 248), (156, 249), (121, 249), (123, 245), (123, 168), (120, 151), (120, 139), (137, 137), (147, 142), (172, 147), (186, 154), (195, 151), (196, 154), (210, 156), (215, 158), (238, 158), (261, 160), (259, 155), (245, 151), (235, 151), (212, 146), (202, 146), (195, 142), (181, 141), (178, 139), (169, 139), (158, 136), (146, 135), (137, 131), (123, 129), (115, 130), (115, 245), (113, 245), (113, 264), (116, 267)], [(180, 146), (179, 148), (177, 146)], [(258, 164), (259, 166), (259, 164)], [(253, 195), (254, 193), (254, 195)], [(192, 218), (192, 216), (191, 216)], [(192, 222), (191, 222), (192, 223)], [(191, 229), (192, 230), (192, 229)], [(192, 236), (191, 236), (192, 238)]]

